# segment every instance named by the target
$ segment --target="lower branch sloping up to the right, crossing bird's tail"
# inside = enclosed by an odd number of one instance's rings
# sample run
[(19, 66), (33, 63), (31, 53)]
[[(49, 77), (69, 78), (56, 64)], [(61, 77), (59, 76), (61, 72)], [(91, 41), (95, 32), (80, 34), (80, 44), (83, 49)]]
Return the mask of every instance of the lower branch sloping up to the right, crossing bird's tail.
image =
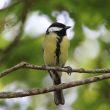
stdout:
[(38, 94), (52, 92), (55, 90), (67, 89), (67, 88), (71, 88), (71, 87), (75, 87), (75, 86), (89, 84), (92, 82), (97, 82), (97, 81), (101, 81), (101, 80), (108, 79), (108, 78), (110, 78), (110, 73), (94, 76), (91, 78), (85, 78), (83, 80), (78, 80), (78, 81), (74, 81), (74, 82), (70, 82), (70, 83), (62, 83), (57, 86), (51, 86), (48, 88), (42, 88), (42, 89), (33, 88), (33, 89), (29, 89), (29, 90), (24, 90), (22, 92), (0, 92), (0, 98), (17, 98), (17, 97), (38, 95)]

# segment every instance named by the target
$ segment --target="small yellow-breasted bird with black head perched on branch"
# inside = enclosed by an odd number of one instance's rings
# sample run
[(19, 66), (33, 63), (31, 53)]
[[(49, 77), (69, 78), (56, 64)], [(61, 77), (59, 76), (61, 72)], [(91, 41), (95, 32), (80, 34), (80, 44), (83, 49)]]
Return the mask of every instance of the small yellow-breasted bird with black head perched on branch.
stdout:
[[(70, 27), (59, 22), (54, 22), (47, 28), (43, 41), (43, 58), (46, 66), (64, 67), (68, 58), (70, 45), (66, 32)], [(61, 72), (55, 70), (48, 72), (53, 80), (53, 85), (61, 84)], [(54, 91), (54, 102), (56, 105), (65, 104), (62, 90)]]

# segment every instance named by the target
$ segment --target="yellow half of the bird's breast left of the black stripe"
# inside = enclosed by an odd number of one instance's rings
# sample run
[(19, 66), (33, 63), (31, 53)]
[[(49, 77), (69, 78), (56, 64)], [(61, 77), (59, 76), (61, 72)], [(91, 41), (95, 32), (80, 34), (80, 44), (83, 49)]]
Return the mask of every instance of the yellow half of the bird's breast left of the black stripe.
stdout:
[(56, 39), (57, 35), (54, 33), (51, 33), (47, 35), (44, 39), (43, 43), (43, 49), (44, 49), (44, 61), (46, 65), (52, 65), (55, 66), (56, 64)]

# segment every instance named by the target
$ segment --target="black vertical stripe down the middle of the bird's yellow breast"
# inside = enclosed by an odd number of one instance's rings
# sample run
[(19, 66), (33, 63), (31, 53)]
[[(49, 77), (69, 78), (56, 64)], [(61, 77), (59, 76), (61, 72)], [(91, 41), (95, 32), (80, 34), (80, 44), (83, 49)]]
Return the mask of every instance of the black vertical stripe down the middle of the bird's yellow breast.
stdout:
[(60, 44), (61, 44), (61, 41), (62, 41), (62, 37), (60, 38), (57, 38), (57, 44), (56, 44), (56, 50), (55, 50), (55, 53), (56, 53), (56, 65), (59, 64), (59, 57), (60, 57), (60, 54), (61, 54), (61, 50), (60, 50)]

